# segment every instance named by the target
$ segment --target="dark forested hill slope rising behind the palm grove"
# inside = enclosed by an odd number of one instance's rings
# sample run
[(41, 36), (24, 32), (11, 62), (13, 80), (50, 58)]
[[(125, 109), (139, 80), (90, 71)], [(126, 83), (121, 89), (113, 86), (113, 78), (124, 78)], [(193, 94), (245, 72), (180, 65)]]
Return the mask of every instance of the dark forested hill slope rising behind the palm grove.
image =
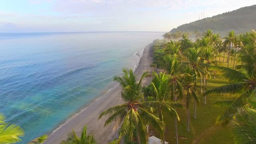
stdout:
[(221, 34), (226, 34), (230, 30), (235, 30), (236, 34), (239, 34), (256, 29), (256, 5), (182, 24), (173, 28), (170, 32), (177, 32), (178, 30), (182, 32), (194, 32), (195, 30), (204, 32), (207, 29), (212, 29), (214, 32), (220, 32)]

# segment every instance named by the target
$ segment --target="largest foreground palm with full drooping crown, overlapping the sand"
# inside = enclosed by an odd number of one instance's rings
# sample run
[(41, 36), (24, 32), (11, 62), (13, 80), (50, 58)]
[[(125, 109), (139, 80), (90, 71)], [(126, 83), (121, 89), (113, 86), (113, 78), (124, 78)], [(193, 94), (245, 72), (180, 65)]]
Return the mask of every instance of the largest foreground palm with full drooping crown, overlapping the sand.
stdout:
[(124, 76), (114, 76), (114, 81), (117, 81), (122, 86), (121, 93), (124, 104), (114, 106), (102, 112), (102, 116), (110, 116), (105, 125), (111, 122), (116, 122), (117, 126), (121, 125), (117, 143), (120, 144), (123, 136), (128, 135), (129, 140), (134, 140), (134, 132), (137, 133), (138, 144), (146, 144), (148, 134), (146, 132), (146, 125), (153, 126), (156, 130), (164, 131), (164, 123), (154, 114), (147, 111), (150, 107), (166, 105), (161, 102), (143, 102), (144, 94), (142, 93), (142, 79), (145, 78), (148, 72), (144, 72), (137, 83), (132, 69), (123, 69)]

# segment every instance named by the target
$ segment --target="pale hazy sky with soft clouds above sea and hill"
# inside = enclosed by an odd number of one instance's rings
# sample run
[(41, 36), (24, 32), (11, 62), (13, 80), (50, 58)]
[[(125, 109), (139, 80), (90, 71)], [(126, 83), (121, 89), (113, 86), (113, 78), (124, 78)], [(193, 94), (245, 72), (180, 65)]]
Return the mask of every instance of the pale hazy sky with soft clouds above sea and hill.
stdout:
[(256, 0), (0, 0), (0, 32), (170, 31)]

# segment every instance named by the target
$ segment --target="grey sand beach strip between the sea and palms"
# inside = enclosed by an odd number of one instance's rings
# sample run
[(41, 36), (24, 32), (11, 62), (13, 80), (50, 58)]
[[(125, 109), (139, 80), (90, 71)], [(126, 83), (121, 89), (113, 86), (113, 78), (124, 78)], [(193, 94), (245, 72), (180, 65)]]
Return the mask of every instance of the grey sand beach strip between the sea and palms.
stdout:
[[(143, 72), (151, 71), (150, 64), (152, 64), (152, 45), (153, 42), (148, 44), (143, 49), (143, 54), (138, 62), (138, 66), (134, 67), (134, 74), (139, 79)], [(138, 54), (138, 52), (136, 53)], [(149, 84), (151, 77), (145, 78), (142, 82), (143, 85)], [(105, 120), (102, 118), (98, 120), (98, 116), (103, 110), (122, 104), (120, 93), (122, 88), (118, 84), (110, 88), (108, 92), (93, 100), (88, 106), (82, 108), (80, 112), (68, 118), (63, 124), (60, 124), (48, 137), (45, 144), (59, 144), (62, 140), (67, 138), (72, 128), (75, 132), (80, 132), (87, 124), (88, 133), (93, 134), (97, 143), (108, 144), (118, 136), (118, 130), (113, 130), (114, 123), (104, 127)]]

